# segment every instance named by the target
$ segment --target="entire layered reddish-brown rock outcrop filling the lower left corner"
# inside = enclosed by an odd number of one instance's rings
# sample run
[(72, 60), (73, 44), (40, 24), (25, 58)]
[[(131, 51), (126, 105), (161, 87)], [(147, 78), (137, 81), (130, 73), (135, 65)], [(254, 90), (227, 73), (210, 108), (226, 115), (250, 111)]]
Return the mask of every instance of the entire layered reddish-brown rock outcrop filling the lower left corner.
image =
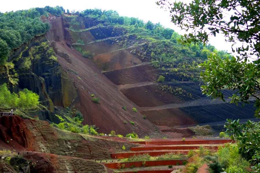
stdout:
[(28, 163), (24, 160), (13, 168), (12, 164), (10, 166), (3, 161), (0, 163), (0, 172), (15, 172), (18, 166), (22, 168), (27, 165), (29, 172), (103, 173), (106, 172), (105, 166), (94, 160), (111, 159), (110, 154), (122, 150), (123, 145), (127, 150), (136, 146), (127, 142), (64, 132), (51, 127), (46, 121), (21, 119), (19, 116), (0, 117), (0, 150), (16, 151), (1, 157), (20, 157), (30, 161)]

